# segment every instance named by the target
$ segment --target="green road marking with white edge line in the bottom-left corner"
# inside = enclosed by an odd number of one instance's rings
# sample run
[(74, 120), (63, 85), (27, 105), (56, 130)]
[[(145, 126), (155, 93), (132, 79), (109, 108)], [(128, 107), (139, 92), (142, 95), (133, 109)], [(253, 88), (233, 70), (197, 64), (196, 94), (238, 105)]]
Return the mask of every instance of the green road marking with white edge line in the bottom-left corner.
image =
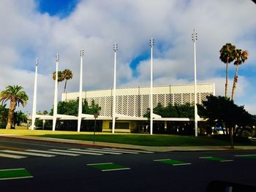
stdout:
[(0, 169), (0, 180), (14, 180), (33, 177), (26, 169)]

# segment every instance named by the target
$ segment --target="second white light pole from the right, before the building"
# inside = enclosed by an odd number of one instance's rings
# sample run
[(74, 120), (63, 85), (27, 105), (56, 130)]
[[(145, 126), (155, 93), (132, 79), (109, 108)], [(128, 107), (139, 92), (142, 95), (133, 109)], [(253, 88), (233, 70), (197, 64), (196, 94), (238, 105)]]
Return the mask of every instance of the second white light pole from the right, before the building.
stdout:
[(153, 134), (153, 47), (154, 39), (151, 37), (149, 40), (149, 45), (151, 47), (151, 62), (150, 62), (150, 134)]

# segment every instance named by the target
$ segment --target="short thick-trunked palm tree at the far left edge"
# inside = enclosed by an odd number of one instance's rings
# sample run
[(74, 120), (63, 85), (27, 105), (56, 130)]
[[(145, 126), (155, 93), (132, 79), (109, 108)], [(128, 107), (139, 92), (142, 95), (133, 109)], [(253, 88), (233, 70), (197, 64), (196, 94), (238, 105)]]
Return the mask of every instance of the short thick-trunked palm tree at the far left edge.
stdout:
[(0, 101), (4, 104), (6, 101), (10, 100), (10, 107), (8, 112), (8, 120), (6, 128), (11, 128), (13, 124), (14, 111), (18, 104), (22, 104), (25, 107), (26, 103), (29, 100), (29, 96), (27, 96), (25, 91), (21, 91), (23, 87), (19, 85), (9, 85), (5, 88), (4, 91), (0, 93)]

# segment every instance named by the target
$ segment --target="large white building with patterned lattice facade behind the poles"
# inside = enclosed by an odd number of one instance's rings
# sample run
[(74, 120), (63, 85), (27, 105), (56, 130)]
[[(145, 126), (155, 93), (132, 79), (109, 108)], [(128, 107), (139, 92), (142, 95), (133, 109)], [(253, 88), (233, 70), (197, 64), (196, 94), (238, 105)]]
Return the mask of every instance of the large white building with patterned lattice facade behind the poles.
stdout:
[[(202, 104), (206, 96), (215, 95), (214, 83), (197, 83), (197, 103)], [(61, 101), (78, 99), (79, 92), (62, 93)], [(113, 89), (83, 91), (82, 98), (89, 104), (94, 100), (101, 110), (99, 115), (109, 117), (103, 120), (102, 130), (110, 131), (113, 114)], [(161, 103), (168, 104), (194, 104), (194, 85), (162, 85), (153, 88), (153, 107)], [(138, 126), (136, 120), (145, 120), (143, 115), (150, 107), (150, 87), (117, 88), (116, 89), (116, 131), (131, 130)], [(177, 118), (155, 118), (154, 120), (177, 120)], [(189, 119), (187, 119), (189, 120)]]

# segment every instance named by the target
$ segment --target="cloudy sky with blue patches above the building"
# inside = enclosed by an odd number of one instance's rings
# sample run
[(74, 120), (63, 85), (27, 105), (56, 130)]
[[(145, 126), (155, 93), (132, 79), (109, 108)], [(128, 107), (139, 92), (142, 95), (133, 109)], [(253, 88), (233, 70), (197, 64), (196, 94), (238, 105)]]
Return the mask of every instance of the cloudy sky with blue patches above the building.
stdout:
[[(59, 70), (74, 76), (67, 91), (79, 90), (80, 48), (83, 91), (113, 88), (117, 42), (117, 88), (150, 85), (149, 39), (155, 40), (154, 85), (194, 82), (197, 32), (197, 82), (214, 82), (225, 94), (225, 64), (219, 50), (230, 42), (249, 51), (239, 66), (235, 103), (256, 114), (256, 4), (249, 0), (1, 0), (0, 90), (21, 85), (31, 113), (35, 60), (39, 59), (37, 111), (53, 107), (55, 57)], [(235, 66), (229, 67), (229, 96)], [(59, 83), (59, 101), (64, 82)]]

